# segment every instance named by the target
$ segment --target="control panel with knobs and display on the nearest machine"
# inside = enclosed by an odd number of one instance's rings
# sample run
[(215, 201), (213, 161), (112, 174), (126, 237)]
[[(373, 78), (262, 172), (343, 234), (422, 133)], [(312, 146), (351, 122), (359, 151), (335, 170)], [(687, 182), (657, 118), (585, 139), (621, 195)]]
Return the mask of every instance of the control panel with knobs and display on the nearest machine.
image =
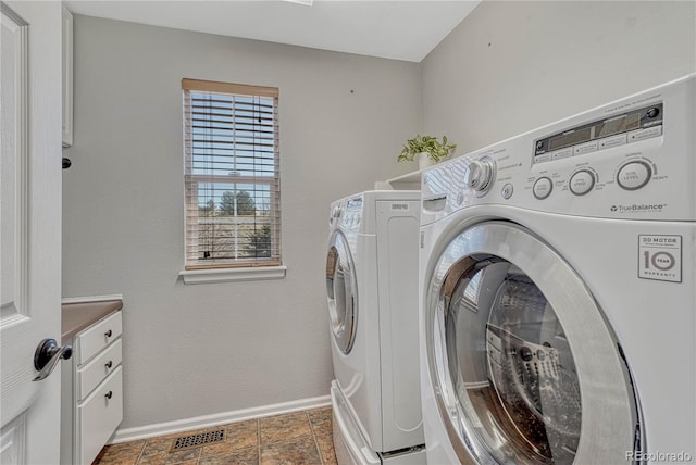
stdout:
[(696, 219), (696, 75), (423, 173), (423, 214), (478, 204), (625, 219)]

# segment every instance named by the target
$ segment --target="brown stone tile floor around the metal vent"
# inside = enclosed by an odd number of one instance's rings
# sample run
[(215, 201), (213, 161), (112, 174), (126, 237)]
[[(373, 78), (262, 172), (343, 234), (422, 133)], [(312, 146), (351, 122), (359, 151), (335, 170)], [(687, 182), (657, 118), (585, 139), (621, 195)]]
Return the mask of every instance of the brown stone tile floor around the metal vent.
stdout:
[[(172, 452), (176, 438), (225, 429), (225, 440)], [(336, 465), (331, 407), (107, 445), (92, 465)]]

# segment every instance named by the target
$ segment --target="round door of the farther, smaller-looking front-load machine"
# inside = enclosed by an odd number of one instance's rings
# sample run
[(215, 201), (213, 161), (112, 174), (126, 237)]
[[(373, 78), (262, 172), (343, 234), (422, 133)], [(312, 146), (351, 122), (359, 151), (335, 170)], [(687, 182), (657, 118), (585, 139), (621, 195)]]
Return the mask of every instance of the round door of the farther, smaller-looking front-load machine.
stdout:
[(336, 231), (328, 241), (326, 294), (328, 318), (336, 345), (349, 353), (356, 336), (358, 313), (356, 269), (346, 237)]

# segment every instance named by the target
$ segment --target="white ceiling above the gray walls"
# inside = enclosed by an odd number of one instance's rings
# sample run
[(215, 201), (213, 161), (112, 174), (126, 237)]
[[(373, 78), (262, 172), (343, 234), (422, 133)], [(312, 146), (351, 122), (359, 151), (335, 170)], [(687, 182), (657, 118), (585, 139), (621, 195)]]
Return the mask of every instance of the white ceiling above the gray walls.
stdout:
[(72, 0), (76, 14), (420, 62), (481, 0)]

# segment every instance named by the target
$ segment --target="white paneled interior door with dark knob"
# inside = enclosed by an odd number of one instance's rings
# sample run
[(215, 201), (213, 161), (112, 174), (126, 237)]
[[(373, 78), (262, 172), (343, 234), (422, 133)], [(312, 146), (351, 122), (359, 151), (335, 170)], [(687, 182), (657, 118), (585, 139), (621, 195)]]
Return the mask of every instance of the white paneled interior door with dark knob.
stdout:
[(61, 3), (0, 2), (0, 462), (57, 464), (61, 335)]

